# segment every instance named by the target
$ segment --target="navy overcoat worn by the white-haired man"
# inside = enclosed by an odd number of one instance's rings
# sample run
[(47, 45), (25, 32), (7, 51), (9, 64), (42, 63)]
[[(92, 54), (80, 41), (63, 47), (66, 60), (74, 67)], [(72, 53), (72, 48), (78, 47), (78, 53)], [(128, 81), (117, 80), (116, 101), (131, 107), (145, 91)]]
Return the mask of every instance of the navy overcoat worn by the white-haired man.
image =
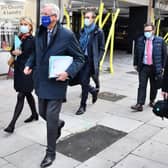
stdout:
[(34, 67), (36, 94), (42, 99), (65, 99), (68, 81), (49, 79), (50, 56), (72, 56), (73, 63), (66, 70), (70, 78), (82, 68), (85, 59), (75, 35), (62, 25), (53, 29), (51, 40), (47, 45), (47, 29), (40, 26), (35, 36), (35, 52), (26, 66)]

